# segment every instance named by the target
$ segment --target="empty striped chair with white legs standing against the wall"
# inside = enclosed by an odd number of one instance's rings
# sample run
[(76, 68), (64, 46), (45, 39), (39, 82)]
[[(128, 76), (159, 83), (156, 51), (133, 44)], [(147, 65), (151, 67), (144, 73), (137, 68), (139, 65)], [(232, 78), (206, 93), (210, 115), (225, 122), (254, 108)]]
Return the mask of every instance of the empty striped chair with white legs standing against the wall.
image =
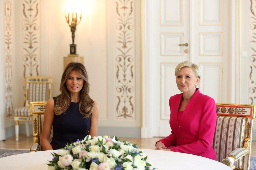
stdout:
[[(15, 136), (19, 140), (19, 121), (31, 121), (29, 113), (29, 103), (32, 101), (47, 101), (51, 98), (52, 77), (26, 77), (25, 105), (14, 109)], [(28, 132), (28, 122), (26, 122), (26, 134)]]

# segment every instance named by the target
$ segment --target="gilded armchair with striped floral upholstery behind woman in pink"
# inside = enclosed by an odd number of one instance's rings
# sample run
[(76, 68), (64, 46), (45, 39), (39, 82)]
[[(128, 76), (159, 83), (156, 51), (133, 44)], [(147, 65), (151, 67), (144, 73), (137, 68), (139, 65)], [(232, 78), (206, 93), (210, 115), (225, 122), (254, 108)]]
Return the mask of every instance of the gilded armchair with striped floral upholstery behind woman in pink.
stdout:
[(212, 146), (217, 161), (232, 169), (249, 170), (255, 106), (216, 103), (217, 122)]

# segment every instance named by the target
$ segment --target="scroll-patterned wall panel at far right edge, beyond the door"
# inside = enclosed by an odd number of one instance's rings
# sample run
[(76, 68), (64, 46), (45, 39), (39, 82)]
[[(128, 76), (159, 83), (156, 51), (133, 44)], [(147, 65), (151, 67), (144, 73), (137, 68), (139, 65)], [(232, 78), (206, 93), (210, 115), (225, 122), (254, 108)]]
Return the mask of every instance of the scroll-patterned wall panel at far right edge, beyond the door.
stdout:
[(249, 104), (256, 104), (256, 7), (249, 5)]

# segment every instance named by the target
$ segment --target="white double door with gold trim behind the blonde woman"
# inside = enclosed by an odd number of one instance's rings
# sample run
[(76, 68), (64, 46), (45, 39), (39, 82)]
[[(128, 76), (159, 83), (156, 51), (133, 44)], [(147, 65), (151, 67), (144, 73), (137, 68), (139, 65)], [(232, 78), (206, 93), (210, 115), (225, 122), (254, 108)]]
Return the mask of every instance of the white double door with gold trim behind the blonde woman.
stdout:
[[(230, 102), (230, 1), (151, 1), (153, 135), (170, 134), (169, 98), (181, 93), (175, 82), (178, 63), (200, 66), (200, 92), (216, 102)], [(150, 40), (149, 40), (150, 39)]]

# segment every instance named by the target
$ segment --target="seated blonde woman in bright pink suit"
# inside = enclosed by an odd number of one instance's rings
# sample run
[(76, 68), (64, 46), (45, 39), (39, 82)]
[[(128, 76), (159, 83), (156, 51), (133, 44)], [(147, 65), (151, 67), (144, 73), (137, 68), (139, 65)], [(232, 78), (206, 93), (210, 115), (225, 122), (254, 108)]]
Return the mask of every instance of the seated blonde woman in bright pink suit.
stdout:
[[(181, 94), (169, 99), (171, 134), (156, 143), (157, 150), (167, 150), (203, 156), (216, 160), (212, 148), (216, 126), (214, 99), (196, 88), (201, 78), (200, 68), (188, 61), (175, 68), (176, 83)], [(210, 88), (210, 87), (208, 87)]]

